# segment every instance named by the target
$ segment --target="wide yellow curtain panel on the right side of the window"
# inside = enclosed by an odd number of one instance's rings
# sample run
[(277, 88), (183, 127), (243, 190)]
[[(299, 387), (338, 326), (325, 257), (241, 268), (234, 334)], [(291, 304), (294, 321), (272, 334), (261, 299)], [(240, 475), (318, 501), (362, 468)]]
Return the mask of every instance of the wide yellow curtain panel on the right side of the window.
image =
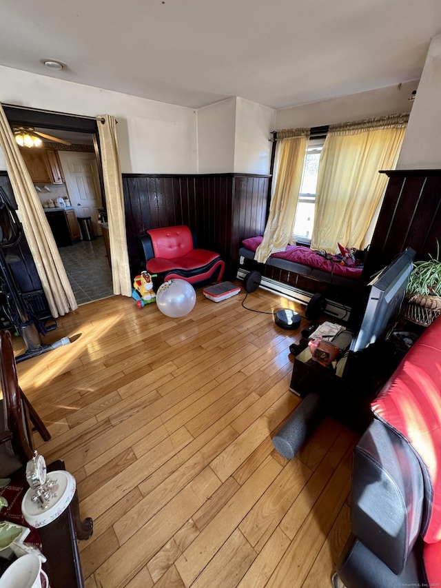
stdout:
[(329, 128), (318, 169), (313, 249), (369, 245), (387, 184), (378, 172), (395, 168), (408, 119), (394, 114)]

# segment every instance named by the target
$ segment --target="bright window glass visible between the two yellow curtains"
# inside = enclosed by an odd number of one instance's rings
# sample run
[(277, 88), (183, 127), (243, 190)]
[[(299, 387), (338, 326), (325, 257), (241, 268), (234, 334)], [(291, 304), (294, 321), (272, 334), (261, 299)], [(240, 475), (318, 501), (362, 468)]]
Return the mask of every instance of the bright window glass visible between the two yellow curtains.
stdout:
[(316, 187), (318, 177), (318, 163), (325, 137), (309, 139), (303, 163), (302, 183), (298, 196), (296, 216), (294, 218), (294, 237), (300, 241), (310, 241), (314, 227), (314, 212), (316, 208)]

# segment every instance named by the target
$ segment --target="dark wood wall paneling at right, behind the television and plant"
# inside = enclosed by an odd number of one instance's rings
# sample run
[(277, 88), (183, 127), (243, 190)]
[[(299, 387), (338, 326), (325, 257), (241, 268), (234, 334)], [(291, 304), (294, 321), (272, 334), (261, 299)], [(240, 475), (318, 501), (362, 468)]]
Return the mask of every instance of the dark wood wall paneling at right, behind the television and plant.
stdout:
[(405, 247), (417, 259), (436, 255), (441, 238), (441, 170), (384, 172), (389, 183), (362, 278), (388, 265)]

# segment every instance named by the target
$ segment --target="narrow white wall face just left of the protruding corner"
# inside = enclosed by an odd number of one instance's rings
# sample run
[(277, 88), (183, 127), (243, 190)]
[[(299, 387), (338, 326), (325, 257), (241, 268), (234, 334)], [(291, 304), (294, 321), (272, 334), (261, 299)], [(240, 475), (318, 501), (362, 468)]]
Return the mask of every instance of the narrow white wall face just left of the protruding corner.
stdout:
[(198, 173), (233, 172), (236, 98), (199, 108), (197, 120)]

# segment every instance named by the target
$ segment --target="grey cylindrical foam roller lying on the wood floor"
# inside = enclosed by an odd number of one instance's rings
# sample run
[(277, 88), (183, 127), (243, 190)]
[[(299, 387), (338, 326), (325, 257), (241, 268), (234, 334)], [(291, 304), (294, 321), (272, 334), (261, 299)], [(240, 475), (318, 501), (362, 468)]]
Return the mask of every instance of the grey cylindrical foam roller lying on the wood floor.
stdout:
[(323, 399), (319, 394), (308, 394), (278, 434), (273, 437), (273, 445), (281, 456), (292, 459), (307, 436), (314, 431), (324, 411)]

